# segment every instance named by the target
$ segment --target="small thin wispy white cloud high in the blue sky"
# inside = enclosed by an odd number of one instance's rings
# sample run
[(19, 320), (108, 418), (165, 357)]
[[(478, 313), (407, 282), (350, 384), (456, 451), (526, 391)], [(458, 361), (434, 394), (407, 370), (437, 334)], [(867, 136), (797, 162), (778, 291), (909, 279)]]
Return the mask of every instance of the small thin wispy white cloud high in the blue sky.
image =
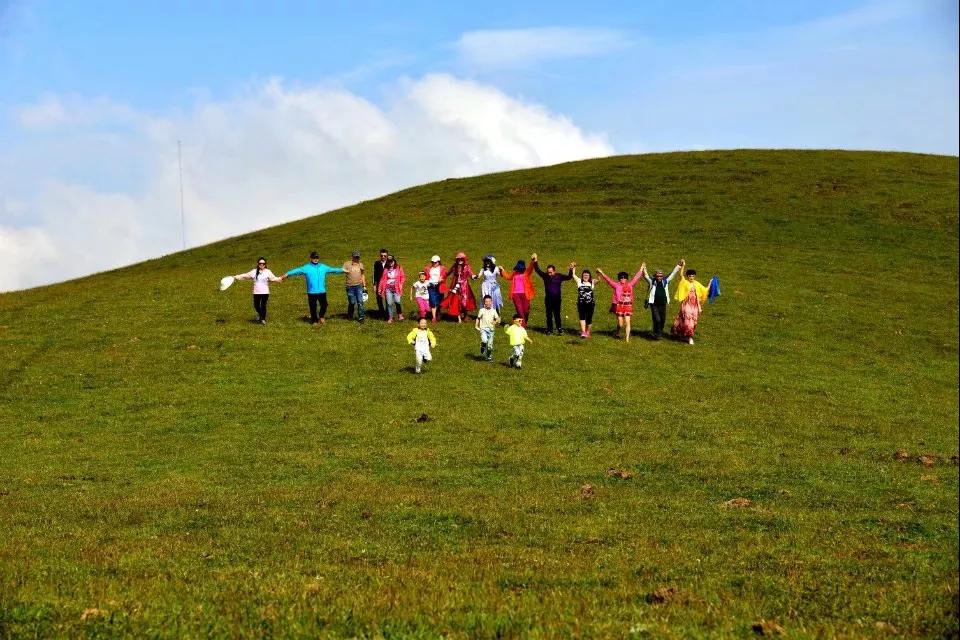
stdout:
[(630, 46), (615, 29), (538, 27), (469, 31), (456, 48), (468, 64), (478, 67), (524, 66), (557, 58), (602, 55)]

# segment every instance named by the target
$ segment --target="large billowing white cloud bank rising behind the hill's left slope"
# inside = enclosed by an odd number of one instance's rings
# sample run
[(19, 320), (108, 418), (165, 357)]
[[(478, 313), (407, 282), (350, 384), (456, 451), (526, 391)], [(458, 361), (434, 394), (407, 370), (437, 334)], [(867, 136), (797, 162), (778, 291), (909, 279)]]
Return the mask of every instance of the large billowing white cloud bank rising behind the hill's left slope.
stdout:
[(273, 80), (185, 113), (47, 96), (15, 119), (18, 143), (0, 151), (6, 290), (180, 249), (178, 139), (192, 246), (431, 180), (614, 152), (447, 75), (401, 83), (385, 105)]

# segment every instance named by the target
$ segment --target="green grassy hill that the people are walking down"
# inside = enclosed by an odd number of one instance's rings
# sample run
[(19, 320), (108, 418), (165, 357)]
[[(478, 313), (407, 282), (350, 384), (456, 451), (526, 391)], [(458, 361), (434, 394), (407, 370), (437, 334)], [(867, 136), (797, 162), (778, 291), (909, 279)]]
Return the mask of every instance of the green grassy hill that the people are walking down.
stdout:
[[(337, 318), (336, 278), (320, 328), (300, 280), (265, 327), (216, 290), (380, 246), (685, 256), (724, 295), (695, 346), (626, 344), (605, 288), (523, 371), (445, 323), (415, 376), (409, 323)], [(957, 637), (957, 271), (957, 158), (736, 151), (446, 180), (0, 295), (0, 636)]]

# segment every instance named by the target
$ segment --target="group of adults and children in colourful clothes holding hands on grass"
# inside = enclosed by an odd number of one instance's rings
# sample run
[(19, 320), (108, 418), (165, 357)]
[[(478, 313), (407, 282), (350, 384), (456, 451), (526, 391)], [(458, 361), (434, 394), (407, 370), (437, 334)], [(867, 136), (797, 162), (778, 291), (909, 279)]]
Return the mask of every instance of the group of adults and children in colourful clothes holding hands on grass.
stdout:
[[(584, 269), (578, 274), (576, 268), (577, 263), (571, 262), (566, 273), (558, 271), (553, 264), (548, 264), (543, 269), (537, 254), (534, 253), (530, 256), (529, 264), (525, 260), (518, 260), (510, 270), (498, 265), (493, 255), (486, 255), (483, 257), (480, 270), (475, 272), (470, 266), (467, 255), (463, 252), (456, 254), (449, 269), (443, 264), (439, 255), (432, 256), (430, 262), (418, 270), (416, 280), (409, 287), (410, 300), (417, 306), (418, 326), (408, 334), (407, 340), (415, 348), (417, 372), (421, 370), (424, 362), (430, 360), (430, 347), (436, 344), (436, 337), (428, 328), (429, 323), (436, 323), (441, 315), (462, 323), (471, 313), (475, 313), (475, 326), (481, 335), (481, 356), (488, 360), (492, 359), (493, 332), (500, 324), (500, 313), (507, 296), (515, 309), (513, 321), (507, 327), (513, 348), (510, 364), (519, 368), (523, 359), (523, 346), (531, 342), (526, 328), (530, 319), (531, 301), (535, 295), (532, 277), (534, 273), (543, 281), (546, 333), (563, 333), (561, 292), (563, 283), (573, 280), (577, 288), (580, 337), (589, 338), (593, 330), (593, 316), (597, 304), (596, 281), (589, 269)], [(640, 269), (632, 278), (626, 271), (619, 272), (615, 279), (604, 273), (602, 269), (598, 268), (596, 272), (613, 290), (610, 311), (617, 318), (617, 329), (614, 335), (619, 337), (622, 333), (628, 342), (634, 311), (634, 289), (641, 279), (648, 285), (643, 305), (650, 309), (653, 325), (651, 336), (655, 340), (661, 339), (664, 335), (667, 305), (670, 301), (669, 287), (678, 274), (683, 272), (683, 277), (676, 287), (674, 299), (680, 303), (680, 309), (673, 321), (671, 334), (691, 345), (700, 314), (703, 312), (703, 303), (720, 294), (719, 281), (716, 277), (710, 281), (709, 287), (704, 286), (697, 280), (697, 272), (686, 269), (686, 261), (682, 259), (669, 274), (659, 269), (651, 273), (645, 262), (640, 265)], [(354, 251), (350, 260), (342, 267), (331, 267), (320, 262), (319, 254), (314, 251), (310, 254), (309, 262), (279, 277), (267, 268), (266, 259), (261, 257), (255, 269), (233, 277), (238, 280), (253, 281), (253, 306), (257, 312), (257, 321), (266, 324), (270, 283), (302, 276), (306, 281), (310, 323), (323, 324), (326, 322), (328, 306), (327, 276), (329, 274), (344, 274), (347, 317), (350, 319), (356, 317), (358, 322), (364, 322), (368, 302), (367, 269), (360, 261), (359, 251)], [(474, 280), (480, 281), (480, 306), (477, 304), (471, 286)], [(379, 317), (386, 319), (388, 323), (405, 319), (403, 301), (406, 282), (406, 274), (397, 259), (387, 249), (381, 249), (379, 259), (373, 266), (373, 288)], [(501, 282), (506, 285), (506, 296)]]

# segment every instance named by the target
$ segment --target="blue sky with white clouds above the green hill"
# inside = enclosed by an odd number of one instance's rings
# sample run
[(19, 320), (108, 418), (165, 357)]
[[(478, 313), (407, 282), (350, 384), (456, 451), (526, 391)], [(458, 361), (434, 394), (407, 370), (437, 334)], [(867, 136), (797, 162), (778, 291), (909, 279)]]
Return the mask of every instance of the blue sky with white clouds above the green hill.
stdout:
[[(68, 275), (178, 248), (151, 226), (178, 139), (191, 245), (591, 155), (956, 155), (957, 75), (956, 3), (940, 0), (0, 0), (0, 250), (30, 286), (56, 277), (29, 263), (62, 255), (58, 228), (90, 236)], [(326, 188), (277, 193), (298, 180)]]

